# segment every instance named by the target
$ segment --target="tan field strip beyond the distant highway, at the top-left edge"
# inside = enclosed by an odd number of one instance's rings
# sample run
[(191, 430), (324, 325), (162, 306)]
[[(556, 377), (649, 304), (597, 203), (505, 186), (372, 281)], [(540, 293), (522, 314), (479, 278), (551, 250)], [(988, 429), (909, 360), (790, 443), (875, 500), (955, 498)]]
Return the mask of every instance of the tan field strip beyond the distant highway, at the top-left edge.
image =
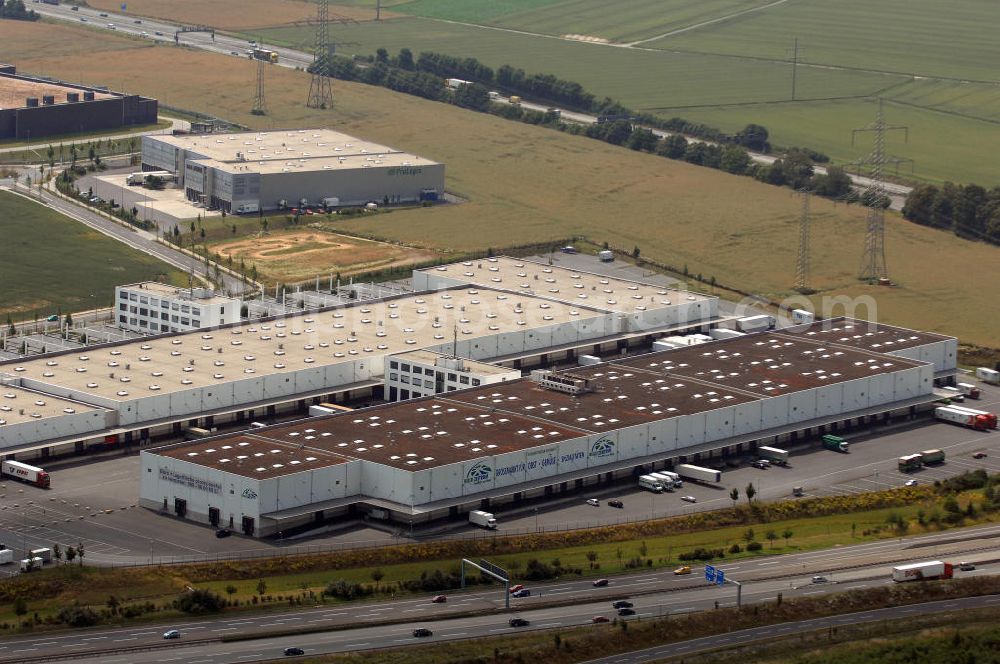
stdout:
[[(91, 7), (117, 12), (119, 0), (89, 0)], [(306, 0), (129, 0), (128, 13), (224, 30), (246, 30), (286, 25), (316, 16), (316, 4)], [(331, 15), (369, 21), (374, 10), (366, 7), (330, 8)], [(383, 12), (385, 16), (385, 12)]]

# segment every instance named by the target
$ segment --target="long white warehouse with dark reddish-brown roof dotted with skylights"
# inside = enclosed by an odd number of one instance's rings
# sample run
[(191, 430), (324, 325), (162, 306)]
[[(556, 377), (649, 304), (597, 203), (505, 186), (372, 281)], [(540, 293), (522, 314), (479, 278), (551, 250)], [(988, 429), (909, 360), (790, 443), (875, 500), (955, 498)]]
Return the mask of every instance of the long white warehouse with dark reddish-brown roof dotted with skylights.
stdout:
[[(956, 340), (835, 319), (145, 451), (141, 504), (249, 535), (406, 522), (913, 416)], [(917, 357), (919, 359), (907, 359)]]

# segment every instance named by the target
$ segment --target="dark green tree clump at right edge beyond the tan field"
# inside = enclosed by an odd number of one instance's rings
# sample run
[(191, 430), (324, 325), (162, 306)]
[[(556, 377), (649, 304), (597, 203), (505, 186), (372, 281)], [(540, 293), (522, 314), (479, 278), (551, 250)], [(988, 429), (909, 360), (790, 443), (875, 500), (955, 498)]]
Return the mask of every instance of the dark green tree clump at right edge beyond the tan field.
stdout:
[(906, 197), (903, 216), (960, 237), (1000, 244), (1000, 187), (919, 185)]

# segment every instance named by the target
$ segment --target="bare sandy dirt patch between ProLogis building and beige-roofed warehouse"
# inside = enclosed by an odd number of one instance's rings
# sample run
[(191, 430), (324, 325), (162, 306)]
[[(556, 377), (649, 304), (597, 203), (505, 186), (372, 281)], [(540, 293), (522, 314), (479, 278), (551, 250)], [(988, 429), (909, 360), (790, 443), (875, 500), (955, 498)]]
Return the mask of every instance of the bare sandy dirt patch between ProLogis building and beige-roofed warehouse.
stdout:
[(337, 235), (316, 228), (279, 231), (213, 244), (213, 252), (256, 265), (265, 281), (294, 282), (315, 275), (342, 275), (432, 258), (433, 251)]

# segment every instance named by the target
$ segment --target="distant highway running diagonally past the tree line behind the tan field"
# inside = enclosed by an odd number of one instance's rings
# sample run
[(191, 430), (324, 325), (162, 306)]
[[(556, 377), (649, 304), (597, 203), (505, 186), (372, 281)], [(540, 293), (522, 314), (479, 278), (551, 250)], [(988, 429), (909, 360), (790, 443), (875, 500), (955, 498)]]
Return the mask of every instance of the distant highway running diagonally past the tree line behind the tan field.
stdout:
[[(132, 16), (126, 16), (122, 14), (108, 13), (108, 12), (97, 12), (92, 9), (87, 9), (81, 7), (79, 11), (71, 11), (66, 5), (41, 5), (35, 6), (35, 11), (38, 13), (49, 16), (52, 18), (61, 19), (64, 21), (71, 22), (81, 22), (81, 19), (87, 19), (87, 24), (95, 28), (108, 29), (108, 24), (113, 24), (117, 32), (123, 34), (138, 36), (140, 38), (154, 39), (156, 41), (161, 41), (165, 43), (172, 42), (174, 40), (174, 33), (179, 26), (170, 24), (164, 21), (157, 21), (154, 19), (136, 19)], [(99, 16), (100, 13), (107, 14), (106, 17)], [(141, 23), (135, 23), (136, 20), (140, 20)], [(160, 32), (162, 35), (157, 35)], [(215, 53), (222, 53), (226, 55), (232, 55), (235, 57), (247, 57), (246, 50), (249, 44), (243, 40), (236, 37), (230, 37), (223, 35), (221, 33), (215, 33), (214, 38), (209, 33), (205, 32), (186, 32), (179, 36), (179, 42), (185, 46), (192, 46), (194, 48), (200, 48), (206, 51), (212, 51)], [(305, 69), (310, 64), (312, 64), (313, 57), (309, 53), (303, 51), (298, 51), (283, 47), (271, 47), (265, 44), (265, 47), (270, 48), (278, 53), (278, 65), (282, 67), (288, 67), (292, 69)], [(507, 101), (504, 98), (500, 98), (499, 101)], [(536, 111), (546, 111), (549, 106), (545, 104), (535, 104), (528, 101), (522, 101), (521, 105), (524, 108), (530, 108)], [(597, 116), (590, 115), (587, 113), (580, 113), (577, 111), (562, 111), (561, 117), (563, 120), (568, 120), (572, 122), (578, 122), (580, 124), (594, 124), (597, 122)], [(660, 129), (653, 129), (654, 134), (660, 138), (670, 135), (670, 132), (666, 132)], [(712, 144), (711, 141), (704, 141), (702, 139), (693, 138), (686, 136), (689, 141), (703, 142), (707, 144)], [(772, 164), (777, 159), (780, 159), (780, 155), (770, 155), (762, 154), (759, 152), (751, 152), (750, 158), (757, 163), (761, 164)], [(814, 171), (817, 174), (825, 175), (826, 168), (824, 166), (816, 165), (814, 166)], [(871, 179), (863, 175), (848, 174), (854, 186), (859, 190), (864, 190), (869, 187), (872, 183)], [(906, 196), (912, 191), (912, 187), (897, 184), (892, 182), (884, 183), (886, 194), (892, 201), (891, 209), (902, 210), (903, 204), (905, 203)]]

